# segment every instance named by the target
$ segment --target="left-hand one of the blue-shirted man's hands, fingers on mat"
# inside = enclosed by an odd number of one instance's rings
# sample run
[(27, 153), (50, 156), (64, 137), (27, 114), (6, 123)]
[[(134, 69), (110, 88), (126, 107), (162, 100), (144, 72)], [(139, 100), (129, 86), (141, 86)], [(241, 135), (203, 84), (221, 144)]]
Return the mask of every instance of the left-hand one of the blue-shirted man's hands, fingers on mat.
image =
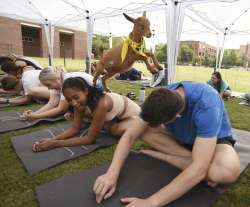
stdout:
[(107, 173), (99, 176), (93, 187), (93, 191), (96, 194), (96, 202), (100, 203), (103, 199), (110, 198), (115, 192), (116, 183), (117, 179)]

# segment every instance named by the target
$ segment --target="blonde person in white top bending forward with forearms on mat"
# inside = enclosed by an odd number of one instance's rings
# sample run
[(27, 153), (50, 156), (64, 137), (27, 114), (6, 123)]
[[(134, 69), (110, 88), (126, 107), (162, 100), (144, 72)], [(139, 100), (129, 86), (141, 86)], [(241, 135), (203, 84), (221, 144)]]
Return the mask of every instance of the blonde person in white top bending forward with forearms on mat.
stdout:
[[(49, 101), (35, 112), (32, 110), (25, 111), (23, 114), (24, 119), (34, 120), (55, 117), (66, 113), (69, 109), (69, 104), (67, 100), (65, 100), (61, 90), (63, 82), (70, 77), (81, 77), (86, 80), (88, 84), (93, 84), (93, 76), (84, 72), (66, 73), (63, 68), (60, 67), (44, 68), (39, 75), (39, 80), (50, 89)], [(102, 88), (101, 82), (97, 82), (97, 87)]]

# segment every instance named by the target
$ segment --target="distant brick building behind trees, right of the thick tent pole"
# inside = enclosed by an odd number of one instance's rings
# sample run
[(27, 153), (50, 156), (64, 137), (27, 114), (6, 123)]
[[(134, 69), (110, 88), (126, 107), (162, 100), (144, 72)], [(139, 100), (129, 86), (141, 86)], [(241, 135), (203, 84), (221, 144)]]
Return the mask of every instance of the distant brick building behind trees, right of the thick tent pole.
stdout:
[(202, 58), (205, 57), (205, 55), (207, 55), (209, 58), (216, 57), (216, 47), (206, 44), (205, 42), (190, 40), (181, 41), (180, 46), (182, 44), (189, 45), (194, 50), (195, 57)]

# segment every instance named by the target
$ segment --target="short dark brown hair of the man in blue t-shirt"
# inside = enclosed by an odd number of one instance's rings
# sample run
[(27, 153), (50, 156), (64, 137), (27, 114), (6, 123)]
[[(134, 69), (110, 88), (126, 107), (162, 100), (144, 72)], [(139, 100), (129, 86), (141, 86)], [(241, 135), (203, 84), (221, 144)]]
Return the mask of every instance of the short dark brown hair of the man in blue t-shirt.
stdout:
[(143, 103), (141, 118), (151, 126), (158, 126), (172, 120), (183, 107), (184, 101), (176, 91), (160, 88)]

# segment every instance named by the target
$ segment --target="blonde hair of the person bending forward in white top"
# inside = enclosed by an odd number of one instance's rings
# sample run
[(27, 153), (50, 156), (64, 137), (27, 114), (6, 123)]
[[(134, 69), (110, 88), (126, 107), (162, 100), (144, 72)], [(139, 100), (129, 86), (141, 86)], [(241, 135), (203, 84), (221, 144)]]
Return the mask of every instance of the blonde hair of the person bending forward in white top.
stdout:
[(64, 72), (64, 69), (61, 66), (45, 67), (39, 74), (39, 80), (43, 81), (43, 80), (60, 79), (63, 72)]

